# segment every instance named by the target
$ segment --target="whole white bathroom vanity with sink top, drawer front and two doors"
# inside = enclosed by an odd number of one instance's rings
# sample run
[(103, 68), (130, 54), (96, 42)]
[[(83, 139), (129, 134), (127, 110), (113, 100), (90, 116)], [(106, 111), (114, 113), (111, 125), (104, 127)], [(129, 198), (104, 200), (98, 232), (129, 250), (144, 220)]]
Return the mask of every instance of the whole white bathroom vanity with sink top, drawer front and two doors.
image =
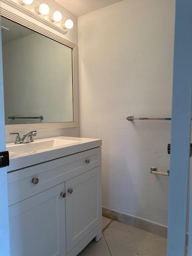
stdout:
[(7, 144), (11, 256), (76, 256), (102, 237), (101, 140)]

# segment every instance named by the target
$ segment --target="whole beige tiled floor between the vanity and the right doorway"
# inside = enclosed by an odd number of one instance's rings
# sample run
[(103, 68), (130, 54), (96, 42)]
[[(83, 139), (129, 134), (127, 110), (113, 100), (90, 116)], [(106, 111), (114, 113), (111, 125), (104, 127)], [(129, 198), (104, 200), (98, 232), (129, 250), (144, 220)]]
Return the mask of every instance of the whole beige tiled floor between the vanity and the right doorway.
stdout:
[(166, 256), (166, 238), (105, 217), (103, 229), (102, 239), (92, 241), (80, 256)]

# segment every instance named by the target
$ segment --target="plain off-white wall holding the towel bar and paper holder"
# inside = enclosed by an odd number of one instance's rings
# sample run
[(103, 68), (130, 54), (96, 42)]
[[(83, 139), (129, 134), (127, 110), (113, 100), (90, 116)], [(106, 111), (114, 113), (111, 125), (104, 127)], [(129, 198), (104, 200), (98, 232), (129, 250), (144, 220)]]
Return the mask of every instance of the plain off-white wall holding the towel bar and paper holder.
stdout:
[(103, 206), (167, 224), (174, 0), (124, 0), (79, 17), (80, 130), (102, 138)]

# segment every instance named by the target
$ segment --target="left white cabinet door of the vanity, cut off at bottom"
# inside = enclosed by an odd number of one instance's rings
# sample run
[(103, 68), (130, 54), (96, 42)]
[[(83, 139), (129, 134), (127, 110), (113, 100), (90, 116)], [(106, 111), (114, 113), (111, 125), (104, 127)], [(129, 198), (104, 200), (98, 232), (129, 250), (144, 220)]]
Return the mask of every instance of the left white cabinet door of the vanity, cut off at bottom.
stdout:
[(65, 184), (9, 207), (11, 256), (64, 256)]

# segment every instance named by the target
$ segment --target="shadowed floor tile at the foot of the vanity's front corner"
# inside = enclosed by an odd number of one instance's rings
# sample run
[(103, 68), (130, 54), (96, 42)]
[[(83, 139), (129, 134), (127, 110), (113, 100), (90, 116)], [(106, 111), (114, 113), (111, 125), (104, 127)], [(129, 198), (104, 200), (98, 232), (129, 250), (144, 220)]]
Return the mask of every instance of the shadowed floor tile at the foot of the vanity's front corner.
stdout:
[(99, 242), (93, 240), (79, 256), (111, 256), (111, 254), (104, 237), (102, 237)]

